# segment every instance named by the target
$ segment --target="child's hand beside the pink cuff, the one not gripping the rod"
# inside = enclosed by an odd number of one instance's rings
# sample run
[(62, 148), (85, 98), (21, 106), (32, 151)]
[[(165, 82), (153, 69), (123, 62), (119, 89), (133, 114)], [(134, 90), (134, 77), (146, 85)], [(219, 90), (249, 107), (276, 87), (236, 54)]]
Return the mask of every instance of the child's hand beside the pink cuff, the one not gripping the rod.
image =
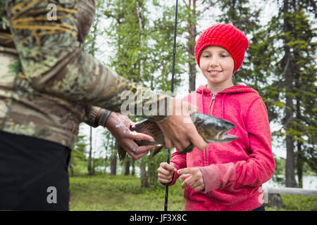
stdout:
[(194, 189), (194, 191), (204, 191), (204, 177), (198, 167), (178, 169), (178, 174), (185, 174), (180, 176), (180, 178), (184, 181), (182, 182), (182, 188), (189, 186)]

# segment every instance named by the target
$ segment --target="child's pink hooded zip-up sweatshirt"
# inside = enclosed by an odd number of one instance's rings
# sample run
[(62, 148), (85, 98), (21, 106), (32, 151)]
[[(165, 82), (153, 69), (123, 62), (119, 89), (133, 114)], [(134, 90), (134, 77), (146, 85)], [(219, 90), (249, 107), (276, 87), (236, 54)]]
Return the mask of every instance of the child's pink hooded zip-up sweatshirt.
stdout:
[[(210, 143), (209, 148), (178, 155), (170, 162), (177, 169), (199, 167), (205, 190), (184, 191), (185, 210), (254, 210), (263, 205), (262, 184), (271, 179), (275, 161), (271, 148), (268, 113), (259, 94), (249, 86), (232, 86), (213, 95), (207, 86), (183, 98), (199, 112), (235, 124), (231, 143)], [(180, 175), (175, 173), (170, 185)]]

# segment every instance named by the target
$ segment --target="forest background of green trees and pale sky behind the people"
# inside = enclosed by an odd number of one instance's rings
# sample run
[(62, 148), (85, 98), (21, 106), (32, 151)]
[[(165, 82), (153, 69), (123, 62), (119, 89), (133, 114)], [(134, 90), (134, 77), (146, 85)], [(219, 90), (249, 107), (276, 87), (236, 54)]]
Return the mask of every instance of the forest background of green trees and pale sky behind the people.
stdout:
[[(231, 23), (250, 46), (235, 84), (256, 89), (272, 131), (276, 170), (282, 186), (303, 187), (303, 176), (317, 174), (316, 1), (180, 0), (175, 61), (175, 96), (205, 84), (194, 59), (195, 41), (216, 23)], [(126, 79), (168, 93), (171, 85), (174, 1), (97, 0), (97, 15), (85, 50)], [(136, 118), (131, 118), (136, 121)], [(158, 182), (154, 158), (120, 162), (116, 141), (103, 128), (80, 125), (70, 160), (70, 176), (137, 176), (140, 188)]]

